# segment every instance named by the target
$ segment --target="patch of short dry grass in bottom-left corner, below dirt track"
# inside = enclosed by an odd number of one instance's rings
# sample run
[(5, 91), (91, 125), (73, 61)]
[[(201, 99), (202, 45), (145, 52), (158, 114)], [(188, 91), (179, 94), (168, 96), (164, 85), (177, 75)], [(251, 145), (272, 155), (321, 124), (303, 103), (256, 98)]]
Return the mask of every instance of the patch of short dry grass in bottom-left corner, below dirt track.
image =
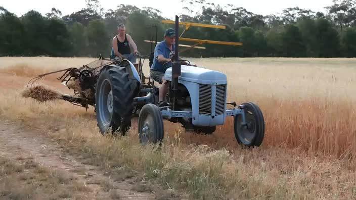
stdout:
[(68, 173), (43, 168), (32, 159), (25, 162), (0, 157), (0, 198), (58, 199), (78, 198), (88, 191)]

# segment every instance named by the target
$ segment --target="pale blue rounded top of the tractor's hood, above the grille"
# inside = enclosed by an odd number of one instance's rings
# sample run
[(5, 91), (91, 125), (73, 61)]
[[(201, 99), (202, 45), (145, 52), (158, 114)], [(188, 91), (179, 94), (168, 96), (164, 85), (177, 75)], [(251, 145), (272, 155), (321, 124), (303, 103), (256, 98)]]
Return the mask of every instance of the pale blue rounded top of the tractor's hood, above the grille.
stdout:
[[(172, 80), (171, 67), (166, 70), (164, 78), (169, 81)], [(181, 76), (179, 76), (178, 80), (209, 85), (220, 85), (227, 83), (227, 77), (224, 73), (187, 65), (181, 66)]]

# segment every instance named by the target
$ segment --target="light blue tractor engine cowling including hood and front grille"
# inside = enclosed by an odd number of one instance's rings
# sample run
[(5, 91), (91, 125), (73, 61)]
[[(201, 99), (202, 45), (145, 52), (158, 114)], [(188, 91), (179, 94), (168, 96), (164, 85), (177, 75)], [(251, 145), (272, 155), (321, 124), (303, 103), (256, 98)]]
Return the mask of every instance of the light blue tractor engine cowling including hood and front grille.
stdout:
[[(171, 81), (171, 68), (166, 70), (164, 78)], [(182, 65), (178, 82), (189, 91), (193, 125), (224, 124), (227, 97), (227, 77), (224, 73)]]

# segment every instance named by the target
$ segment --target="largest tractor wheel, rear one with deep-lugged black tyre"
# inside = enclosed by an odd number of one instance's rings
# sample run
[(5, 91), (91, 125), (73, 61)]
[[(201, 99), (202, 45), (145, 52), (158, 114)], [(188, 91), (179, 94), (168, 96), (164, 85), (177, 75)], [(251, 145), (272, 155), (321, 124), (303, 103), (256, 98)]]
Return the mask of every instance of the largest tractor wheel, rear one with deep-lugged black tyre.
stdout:
[(124, 135), (131, 126), (133, 97), (138, 82), (128, 78), (126, 68), (108, 66), (99, 76), (96, 87), (96, 113), (100, 132), (118, 131)]

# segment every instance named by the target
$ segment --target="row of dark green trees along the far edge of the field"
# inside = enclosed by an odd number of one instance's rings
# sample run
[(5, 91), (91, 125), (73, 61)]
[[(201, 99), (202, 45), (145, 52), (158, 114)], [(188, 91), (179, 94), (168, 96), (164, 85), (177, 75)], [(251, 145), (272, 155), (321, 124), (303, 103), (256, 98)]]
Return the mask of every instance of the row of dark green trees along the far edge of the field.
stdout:
[[(355, 57), (356, 0), (334, 0), (327, 12), (298, 7), (263, 16), (234, 5), (224, 7), (205, 0), (182, 0), (181, 21), (226, 25), (226, 29), (190, 27), (184, 37), (242, 42), (242, 46), (203, 44), (190, 49), (189, 57)], [(172, 16), (174, 17), (174, 16)], [(21, 17), (0, 7), (0, 56), (109, 57), (117, 25), (124, 23), (148, 55), (154, 46), (144, 40), (163, 39), (161, 11), (118, 5), (104, 11), (98, 0), (69, 15), (53, 8), (42, 16), (30, 10)], [(183, 31), (180, 27), (180, 32)], [(192, 45), (190, 42), (180, 42)]]

